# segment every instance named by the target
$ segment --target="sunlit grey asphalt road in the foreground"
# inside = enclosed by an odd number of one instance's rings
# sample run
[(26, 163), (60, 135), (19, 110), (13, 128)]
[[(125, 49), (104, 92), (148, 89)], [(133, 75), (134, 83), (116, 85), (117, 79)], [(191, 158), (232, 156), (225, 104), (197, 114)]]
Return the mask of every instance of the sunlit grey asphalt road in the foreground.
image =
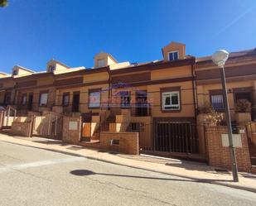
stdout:
[(0, 206), (256, 205), (256, 194), (0, 141)]

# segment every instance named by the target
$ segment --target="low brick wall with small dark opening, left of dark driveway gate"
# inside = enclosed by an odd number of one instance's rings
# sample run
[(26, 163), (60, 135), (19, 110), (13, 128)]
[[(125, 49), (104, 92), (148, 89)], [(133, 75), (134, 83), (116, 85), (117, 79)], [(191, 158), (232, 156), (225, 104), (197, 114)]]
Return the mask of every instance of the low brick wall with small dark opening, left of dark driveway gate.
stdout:
[(108, 151), (138, 155), (138, 132), (100, 132), (100, 147)]

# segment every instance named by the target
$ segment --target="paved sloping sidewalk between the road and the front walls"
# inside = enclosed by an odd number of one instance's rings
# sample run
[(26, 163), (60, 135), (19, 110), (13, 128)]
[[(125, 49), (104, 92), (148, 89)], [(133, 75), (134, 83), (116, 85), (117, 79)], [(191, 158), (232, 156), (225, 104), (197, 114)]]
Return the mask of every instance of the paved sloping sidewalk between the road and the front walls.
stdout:
[[(93, 160), (101, 160), (118, 165), (125, 165), (142, 170), (151, 170), (167, 175), (176, 175), (191, 180), (220, 184), (238, 189), (245, 189), (256, 193), (256, 175), (239, 173), (239, 183), (232, 181), (230, 171), (215, 170), (204, 163), (191, 161), (156, 158), (152, 156), (128, 156), (106, 151), (87, 149), (82, 146), (68, 145), (62, 141), (54, 141), (39, 137), (12, 137), (0, 133), (0, 141), (7, 141), (23, 146), (32, 146), (49, 151), (57, 151), (73, 156), (85, 156)], [(220, 168), (219, 168), (220, 169)]]

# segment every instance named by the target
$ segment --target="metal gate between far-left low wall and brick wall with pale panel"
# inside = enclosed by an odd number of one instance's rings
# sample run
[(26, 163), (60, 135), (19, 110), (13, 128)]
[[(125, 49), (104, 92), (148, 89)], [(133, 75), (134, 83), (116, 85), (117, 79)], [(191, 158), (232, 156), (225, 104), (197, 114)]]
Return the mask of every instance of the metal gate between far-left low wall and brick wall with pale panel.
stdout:
[(32, 135), (56, 140), (62, 139), (63, 116), (56, 113), (46, 113), (36, 116), (33, 120)]

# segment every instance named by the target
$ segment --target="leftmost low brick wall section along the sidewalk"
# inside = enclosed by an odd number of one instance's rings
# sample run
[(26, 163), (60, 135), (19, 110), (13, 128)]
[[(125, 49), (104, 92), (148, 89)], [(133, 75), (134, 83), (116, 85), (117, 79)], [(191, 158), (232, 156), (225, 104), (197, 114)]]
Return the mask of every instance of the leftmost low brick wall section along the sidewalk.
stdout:
[(31, 137), (32, 122), (12, 122), (11, 132), (15, 136)]

